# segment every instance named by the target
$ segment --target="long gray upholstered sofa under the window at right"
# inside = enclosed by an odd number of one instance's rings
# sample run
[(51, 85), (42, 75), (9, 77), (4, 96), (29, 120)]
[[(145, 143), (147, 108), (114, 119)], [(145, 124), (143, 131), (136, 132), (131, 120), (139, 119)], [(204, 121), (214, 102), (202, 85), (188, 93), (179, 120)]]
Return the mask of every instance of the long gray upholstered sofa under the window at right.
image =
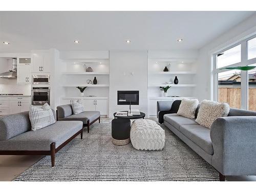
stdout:
[[(172, 103), (158, 101), (157, 113), (168, 111)], [(218, 170), (224, 181), (225, 176), (256, 175), (255, 116), (256, 112), (230, 108), (228, 117), (216, 119), (210, 129), (176, 113), (165, 114), (163, 123)]]

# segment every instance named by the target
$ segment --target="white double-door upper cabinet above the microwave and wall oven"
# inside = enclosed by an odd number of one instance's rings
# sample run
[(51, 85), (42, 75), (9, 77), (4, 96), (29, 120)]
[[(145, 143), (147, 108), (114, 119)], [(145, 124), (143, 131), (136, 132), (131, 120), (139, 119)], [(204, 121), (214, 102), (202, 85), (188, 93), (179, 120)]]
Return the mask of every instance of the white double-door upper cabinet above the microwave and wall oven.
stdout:
[(51, 59), (50, 54), (33, 53), (32, 54), (32, 72), (33, 73), (50, 73)]

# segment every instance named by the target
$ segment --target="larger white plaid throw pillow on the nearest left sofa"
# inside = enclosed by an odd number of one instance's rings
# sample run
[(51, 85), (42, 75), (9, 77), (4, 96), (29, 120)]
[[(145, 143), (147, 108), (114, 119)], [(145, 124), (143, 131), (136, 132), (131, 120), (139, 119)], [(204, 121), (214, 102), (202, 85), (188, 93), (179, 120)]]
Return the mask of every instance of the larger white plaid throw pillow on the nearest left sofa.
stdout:
[(41, 108), (31, 104), (29, 109), (29, 119), (32, 131), (39, 130), (56, 122), (52, 109), (48, 103), (42, 105)]

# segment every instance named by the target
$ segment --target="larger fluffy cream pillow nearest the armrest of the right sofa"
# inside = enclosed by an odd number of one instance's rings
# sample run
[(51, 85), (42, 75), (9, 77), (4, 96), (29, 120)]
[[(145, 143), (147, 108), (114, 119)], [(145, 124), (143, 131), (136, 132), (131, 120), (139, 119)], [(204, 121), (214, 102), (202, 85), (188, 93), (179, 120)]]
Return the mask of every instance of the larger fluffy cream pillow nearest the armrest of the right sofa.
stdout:
[(203, 100), (200, 104), (196, 122), (210, 129), (211, 124), (219, 117), (226, 117), (229, 113), (228, 103)]

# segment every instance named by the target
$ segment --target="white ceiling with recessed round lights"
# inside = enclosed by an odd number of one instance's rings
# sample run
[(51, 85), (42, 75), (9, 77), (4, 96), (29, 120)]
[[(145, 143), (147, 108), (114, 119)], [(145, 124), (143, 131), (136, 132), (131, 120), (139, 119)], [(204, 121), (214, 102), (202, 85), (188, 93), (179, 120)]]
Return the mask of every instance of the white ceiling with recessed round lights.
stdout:
[(0, 12), (0, 51), (200, 49), (254, 13)]

